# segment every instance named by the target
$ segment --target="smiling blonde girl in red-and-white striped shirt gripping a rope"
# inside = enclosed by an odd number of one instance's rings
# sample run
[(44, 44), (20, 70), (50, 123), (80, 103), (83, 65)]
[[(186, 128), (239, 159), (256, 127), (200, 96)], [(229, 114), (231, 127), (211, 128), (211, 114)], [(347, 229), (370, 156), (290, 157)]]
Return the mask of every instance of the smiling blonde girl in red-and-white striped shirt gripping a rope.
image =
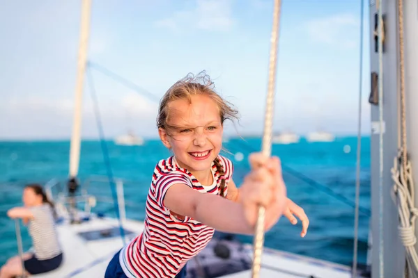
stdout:
[(238, 112), (212, 87), (204, 73), (187, 76), (162, 98), (158, 133), (173, 156), (155, 166), (144, 232), (114, 256), (105, 278), (185, 277), (183, 266), (206, 247), (215, 229), (253, 234), (258, 204), (266, 208), (265, 229), (283, 213), (295, 220), (293, 212), (306, 234), (307, 217), (286, 198), (278, 158), (251, 154), (252, 170), (239, 189), (235, 186), (233, 165), (219, 152), (224, 121)]

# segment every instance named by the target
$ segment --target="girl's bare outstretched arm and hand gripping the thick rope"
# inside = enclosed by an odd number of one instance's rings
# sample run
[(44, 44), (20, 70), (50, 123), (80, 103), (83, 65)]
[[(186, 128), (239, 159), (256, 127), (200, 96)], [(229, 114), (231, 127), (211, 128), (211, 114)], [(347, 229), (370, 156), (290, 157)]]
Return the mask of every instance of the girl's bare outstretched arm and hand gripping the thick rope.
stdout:
[[(253, 234), (258, 206), (265, 207), (265, 229), (274, 225), (284, 212), (286, 186), (281, 177), (278, 158), (251, 154), (253, 170), (240, 187), (238, 201), (208, 193), (199, 193), (183, 183), (175, 183), (163, 192), (163, 206), (180, 215), (187, 215), (219, 231)], [(165, 192), (165, 195), (164, 195)]]

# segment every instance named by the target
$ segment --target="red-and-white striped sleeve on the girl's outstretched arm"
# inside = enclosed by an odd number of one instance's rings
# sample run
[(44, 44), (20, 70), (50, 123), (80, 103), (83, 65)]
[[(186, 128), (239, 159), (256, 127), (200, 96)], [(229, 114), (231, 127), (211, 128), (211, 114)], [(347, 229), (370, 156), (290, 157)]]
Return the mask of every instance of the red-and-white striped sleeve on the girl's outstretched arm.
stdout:
[(177, 183), (183, 183), (192, 188), (190, 180), (184, 174), (176, 172), (160, 174), (155, 180), (155, 199), (162, 208), (165, 208), (164, 197), (167, 194), (167, 190)]

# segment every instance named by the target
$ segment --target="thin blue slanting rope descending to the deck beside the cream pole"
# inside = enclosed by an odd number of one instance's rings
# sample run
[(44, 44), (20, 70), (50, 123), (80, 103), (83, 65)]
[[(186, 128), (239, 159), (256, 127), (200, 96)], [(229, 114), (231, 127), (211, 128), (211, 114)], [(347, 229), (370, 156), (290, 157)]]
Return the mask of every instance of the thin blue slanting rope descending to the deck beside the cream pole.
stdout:
[(118, 197), (117, 197), (117, 194), (116, 194), (116, 184), (115, 184), (115, 181), (114, 181), (113, 172), (111, 170), (111, 163), (110, 163), (110, 158), (109, 158), (109, 152), (107, 150), (106, 140), (104, 139), (104, 131), (103, 131), (103, 126), (102, 126), (102, 121), (100, 119), (98, 98), (95, 94), (93, 76), (91, 75), (91, 72), (90, 72), (90, 70), (88, 70), (88, 68), (86, 70), (86, 74), (88, 76), (88, 85), (90, 86), (91, 99), (93, 101), (93, 110), (94, 110), (96, 122), (97, 122), (97, 125), (98, 125), (99, 136), (100, 136), (100, 145), (102, 147), (102, 154), (103, 154), (104, 164), (106, 165), (107, 177), (109, 178), (109, 185), (110, 185), (111, 194), (112, 194), (112, 197), (114, 198), (116, 218), (118, 218), (119, 230), (121, 232), (122, 242), (123, 242), (123, 245), (125, 245), (125, 231), (123, 231), (121, 215), (119, 213), (119, 205), (118, 205), (118, 201), (117, 201)]

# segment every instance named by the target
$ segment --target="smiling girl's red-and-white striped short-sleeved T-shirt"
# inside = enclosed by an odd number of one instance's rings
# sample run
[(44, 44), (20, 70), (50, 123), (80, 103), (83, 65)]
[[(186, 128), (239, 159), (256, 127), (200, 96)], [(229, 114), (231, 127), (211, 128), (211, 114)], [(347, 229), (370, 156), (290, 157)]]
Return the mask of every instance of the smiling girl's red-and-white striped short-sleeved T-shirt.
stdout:
[(225, 174), (221, 177), (212, 163), (214, 182), (211, 186), (201, 185), (192, 173), (178, 167), (173, 156), (155, 166), (146, 201), (144, 231), (126, 245), (119, 256), (127, 277), (175, 277), (189, 259), (206, 247), (215, 230), (192, 218), (180, 220), (174, 217), (163, 200), (170, 186), (176, 183), (183, 183), (201, 193), (218, 195), (222, 178), (226, 181), (226, 196), (233, 165), (228, 158), (218, 158)]

